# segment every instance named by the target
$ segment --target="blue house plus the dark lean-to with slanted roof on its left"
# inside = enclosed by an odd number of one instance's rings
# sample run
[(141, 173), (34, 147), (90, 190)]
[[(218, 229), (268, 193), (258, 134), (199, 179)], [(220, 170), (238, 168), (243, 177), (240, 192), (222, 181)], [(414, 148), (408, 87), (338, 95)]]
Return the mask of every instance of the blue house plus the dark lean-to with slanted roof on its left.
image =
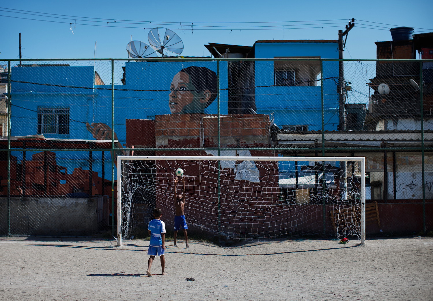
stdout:
[[(259, 114), (275, 113), (274, 123), (280, 129), (321, 130), (322, 70), (317, 59), (338, 59), (337, 40), (264, 40), (253, 46), (204, 46), (215, 57), (239, 59), (228, 66), (229, 114), (251, 113), (253, 109)], [(248, 62), (242, 58), (305, 60)], [(325, 130), (336, 130), (338, 62), (323, 62), (323, 78)]]

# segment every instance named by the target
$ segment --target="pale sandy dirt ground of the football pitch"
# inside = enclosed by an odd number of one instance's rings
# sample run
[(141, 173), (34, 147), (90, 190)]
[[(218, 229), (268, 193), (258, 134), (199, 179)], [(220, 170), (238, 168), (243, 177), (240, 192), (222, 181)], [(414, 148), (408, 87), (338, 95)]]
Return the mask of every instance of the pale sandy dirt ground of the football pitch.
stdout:
[(168, 241), (168, 275), (155, 258), (152, 277), (148, 241), (115, 245), (1, 237), (0, 300), (433, 300), (432, 238)]

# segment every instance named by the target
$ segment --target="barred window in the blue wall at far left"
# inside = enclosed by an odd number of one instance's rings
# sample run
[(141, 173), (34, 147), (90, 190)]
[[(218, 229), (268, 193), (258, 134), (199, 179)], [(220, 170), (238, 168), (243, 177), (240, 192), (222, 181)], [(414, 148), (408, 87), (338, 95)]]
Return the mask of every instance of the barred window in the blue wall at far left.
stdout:
[(69, 108), (38, 108), (38, 134), (69, 134)]

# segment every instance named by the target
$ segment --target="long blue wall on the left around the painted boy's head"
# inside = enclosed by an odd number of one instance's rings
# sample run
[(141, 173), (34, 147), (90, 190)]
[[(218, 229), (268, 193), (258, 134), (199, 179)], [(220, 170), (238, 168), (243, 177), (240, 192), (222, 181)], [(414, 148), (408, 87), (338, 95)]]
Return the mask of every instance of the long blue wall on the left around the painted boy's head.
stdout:
[[(173, 76), (189, 66), (207, 67), (217, 73), (216, 62), (126, 62), (126, 85), (114, 86), (114, 131), (121, 144), (126, 143), (126, 119), (153, 119), (155, 115), (170, 114), (168, 94)], [(227, 63), (220, 62), (220, 72), (227, 74)], [(69, 134), (44, 134), (48, 138), (94, 139), (86, 123), (104, 123), (111, 128), (111, 85), (94, 86), (93, 66), (35, 66), (11, 69), (12, 135), (38, 133), (38, 107), (69, 108)], [(220, 113), (227, 114), (226, 76), (221, 76)], [(165, 91), (137, 91), (165, 90)], [(217, 113), (217, 101), (205, 109)], [(32, 152), (27, 153), (31, 160)], [(21, 152), (13, 152), (22, 160)], [(101, 176), (101, 152), (93, 152), (93, 170)], [(68, 168), (88, 169), (88, 152), (56, 152), (57, 164)], [(110, 152), (105, 153), (110, 160)], [(111, 164), (106, 162), (105, 177), (110, 178)]]

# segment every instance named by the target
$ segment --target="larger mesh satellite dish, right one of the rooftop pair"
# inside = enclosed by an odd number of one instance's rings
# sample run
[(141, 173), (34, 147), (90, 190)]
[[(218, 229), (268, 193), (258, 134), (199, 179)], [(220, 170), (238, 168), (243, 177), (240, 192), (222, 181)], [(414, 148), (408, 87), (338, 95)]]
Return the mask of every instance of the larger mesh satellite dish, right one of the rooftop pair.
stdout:
[(162, 56), (178, 56), (184, 50), (184, 43), (180, 36), (170, 29), (156, 27), (147, 36), (149, 44)]

